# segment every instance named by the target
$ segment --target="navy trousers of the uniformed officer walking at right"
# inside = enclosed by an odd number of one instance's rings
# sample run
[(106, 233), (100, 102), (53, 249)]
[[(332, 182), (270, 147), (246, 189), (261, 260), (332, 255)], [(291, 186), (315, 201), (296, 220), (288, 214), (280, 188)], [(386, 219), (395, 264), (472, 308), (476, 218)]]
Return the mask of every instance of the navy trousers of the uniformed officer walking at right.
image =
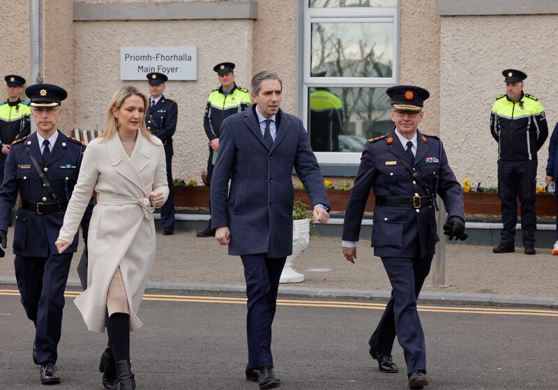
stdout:
[(430, 272), (432, 256), (382, 257), (391, 283), (391, 299), (384, 315), (370, 337), (370, 347), (381, 354), (391, 354), (397, 336), (405, 354), (407, 373), (426, 372), (426, 348), (423, 327), (416, 310), (416, 299)]

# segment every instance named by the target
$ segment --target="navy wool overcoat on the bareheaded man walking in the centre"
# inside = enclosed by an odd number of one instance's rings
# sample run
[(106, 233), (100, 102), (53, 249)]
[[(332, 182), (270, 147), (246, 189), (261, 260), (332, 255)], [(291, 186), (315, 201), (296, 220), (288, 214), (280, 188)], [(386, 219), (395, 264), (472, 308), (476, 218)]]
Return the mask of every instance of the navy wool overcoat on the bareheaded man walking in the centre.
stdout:
[(327, 206), (329, 200), (301, 120), (279, 110), (269, 149), (254, 110), (228, 117), (221, 127), (211, 179), (212, 227), (229, 227), (229, 255), (284, 257), (292, 253), (293, 167), (312, 205)]

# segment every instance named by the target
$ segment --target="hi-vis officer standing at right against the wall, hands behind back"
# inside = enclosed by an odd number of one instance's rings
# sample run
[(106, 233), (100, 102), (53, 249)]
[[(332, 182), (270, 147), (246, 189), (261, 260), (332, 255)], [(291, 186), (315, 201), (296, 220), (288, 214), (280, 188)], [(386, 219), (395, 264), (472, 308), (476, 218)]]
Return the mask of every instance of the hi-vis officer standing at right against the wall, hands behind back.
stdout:
[(527, 75), (502, 72), (506, 93), (498, 96), (490, 114), (490, 133), (498, 142), (498, 192), (502, 200), (502, 238), (494, 253), (514, 252), (517, 198), (521, 202), (521, 230), (526, 255), (534, 255), (536, 230), (536, 152), (548, 137), (543, 105), (523, 92)]

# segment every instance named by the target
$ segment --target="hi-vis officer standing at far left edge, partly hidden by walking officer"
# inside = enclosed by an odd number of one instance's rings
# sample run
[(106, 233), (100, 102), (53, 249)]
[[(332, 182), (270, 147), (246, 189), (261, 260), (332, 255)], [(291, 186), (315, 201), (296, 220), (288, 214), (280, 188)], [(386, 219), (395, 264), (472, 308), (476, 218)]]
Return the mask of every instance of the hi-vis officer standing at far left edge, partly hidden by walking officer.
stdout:
[(6, 155), (12, 142), (26, 135), (31, 130), (31, 108), (27, 100), (21, 100), (25, 79), (18, 75), (4, 77), (8, 84), (8, 99), (0, 103), (0, 183), (4, 177)]

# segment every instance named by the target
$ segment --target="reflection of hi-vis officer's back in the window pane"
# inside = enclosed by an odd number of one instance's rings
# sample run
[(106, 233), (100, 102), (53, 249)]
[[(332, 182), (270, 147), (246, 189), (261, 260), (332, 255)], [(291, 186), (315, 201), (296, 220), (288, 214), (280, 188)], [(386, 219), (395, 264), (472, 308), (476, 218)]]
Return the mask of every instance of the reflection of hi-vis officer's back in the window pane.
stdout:
[[(319, 72), (312, 77), (324, 77)], [(343, 104), (329, 89), (315, 87), (310, 93), (310, 146), (313, 151), (341, 151), (339, 135), (343, 131)]]

